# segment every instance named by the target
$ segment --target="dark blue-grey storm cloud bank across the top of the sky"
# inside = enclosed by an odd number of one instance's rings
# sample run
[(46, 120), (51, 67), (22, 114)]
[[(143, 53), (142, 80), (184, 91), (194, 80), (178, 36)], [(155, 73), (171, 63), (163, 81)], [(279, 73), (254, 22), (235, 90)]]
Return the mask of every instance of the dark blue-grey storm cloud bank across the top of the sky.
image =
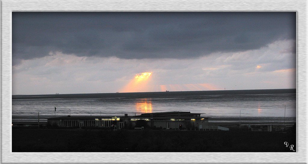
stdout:
[(193, 58), (296, 37), (294, 12), (13, 12), (12, 18), (13, 64), (55, 51), (124, 59)]

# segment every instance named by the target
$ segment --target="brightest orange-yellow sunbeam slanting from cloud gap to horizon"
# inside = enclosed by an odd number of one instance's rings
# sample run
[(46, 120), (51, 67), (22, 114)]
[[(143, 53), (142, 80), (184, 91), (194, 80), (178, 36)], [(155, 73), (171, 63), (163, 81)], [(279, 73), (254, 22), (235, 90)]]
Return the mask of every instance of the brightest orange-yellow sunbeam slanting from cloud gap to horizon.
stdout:
[(152, 72), (142, 72), (136, 74), (135, 78), (132, 79), (121, 92), (148, 92), (150, 91), (148, 81), (152, 75)]

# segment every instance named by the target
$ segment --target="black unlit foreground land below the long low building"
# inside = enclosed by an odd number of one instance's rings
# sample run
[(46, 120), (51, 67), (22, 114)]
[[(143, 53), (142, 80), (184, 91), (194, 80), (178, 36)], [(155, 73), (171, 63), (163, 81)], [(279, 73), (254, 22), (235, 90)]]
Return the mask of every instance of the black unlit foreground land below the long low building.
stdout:
[[(12, 129), (13, 152), (296, 152), (295, 130)], [(289, 146), (290, 146), (289, 145)]]

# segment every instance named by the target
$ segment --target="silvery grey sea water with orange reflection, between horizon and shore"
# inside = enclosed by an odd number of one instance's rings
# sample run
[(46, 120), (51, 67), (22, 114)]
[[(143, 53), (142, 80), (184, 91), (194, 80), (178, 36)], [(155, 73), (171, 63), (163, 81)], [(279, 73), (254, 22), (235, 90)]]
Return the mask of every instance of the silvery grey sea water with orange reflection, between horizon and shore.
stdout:
[(12, 96), (12, 115), (121, 116), (166, 111), (214, 118), (296, 117), (296, 89)]

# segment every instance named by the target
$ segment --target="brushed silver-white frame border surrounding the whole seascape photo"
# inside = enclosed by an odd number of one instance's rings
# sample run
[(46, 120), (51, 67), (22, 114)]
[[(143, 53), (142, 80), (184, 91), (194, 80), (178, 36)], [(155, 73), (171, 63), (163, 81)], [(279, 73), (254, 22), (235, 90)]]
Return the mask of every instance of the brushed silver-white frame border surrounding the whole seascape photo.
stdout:
[[(4, 0), (1, 2), (1, 162), (3, 163), (307, 163), (305, 0)], [(296, 153), (12, 153), (12, 11), (292, 11), (297, 12), (297, 152)], [(306, 116), (306, 117), (305, 117)]]

